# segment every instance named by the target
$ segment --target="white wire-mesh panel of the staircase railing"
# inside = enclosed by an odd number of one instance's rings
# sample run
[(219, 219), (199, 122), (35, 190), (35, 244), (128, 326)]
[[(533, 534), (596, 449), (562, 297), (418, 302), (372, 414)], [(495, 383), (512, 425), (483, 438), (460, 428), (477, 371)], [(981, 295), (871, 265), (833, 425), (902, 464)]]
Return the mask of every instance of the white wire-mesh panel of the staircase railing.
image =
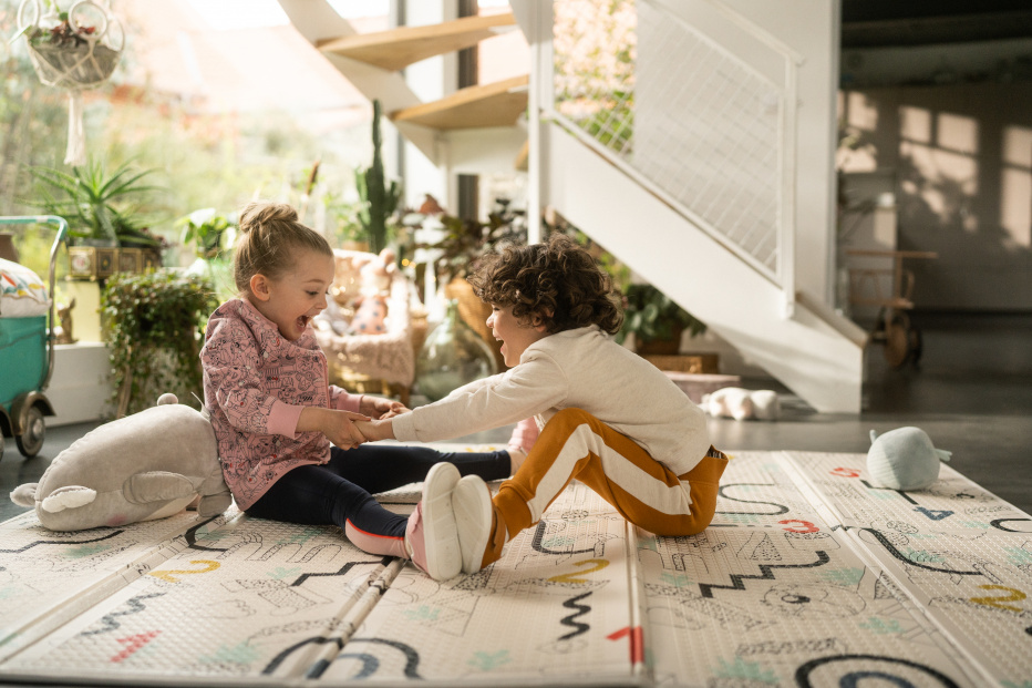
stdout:
[(798, 58), (725, 13), (731, 52), (682, 13), (660, 0), (554, 3), (546, 116), (777, 285), (791, 311)]

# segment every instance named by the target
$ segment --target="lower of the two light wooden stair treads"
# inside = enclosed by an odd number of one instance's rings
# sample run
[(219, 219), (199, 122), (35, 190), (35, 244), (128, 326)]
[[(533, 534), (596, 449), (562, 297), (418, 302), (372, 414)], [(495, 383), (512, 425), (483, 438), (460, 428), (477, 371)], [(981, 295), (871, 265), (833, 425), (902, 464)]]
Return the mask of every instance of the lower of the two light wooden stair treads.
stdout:
[(394, 111), (390, 117), (440, 130), (512, 126), (527, 110), (529, 83), (529, 75), (524, 74), (468, 86), (432, 103)]

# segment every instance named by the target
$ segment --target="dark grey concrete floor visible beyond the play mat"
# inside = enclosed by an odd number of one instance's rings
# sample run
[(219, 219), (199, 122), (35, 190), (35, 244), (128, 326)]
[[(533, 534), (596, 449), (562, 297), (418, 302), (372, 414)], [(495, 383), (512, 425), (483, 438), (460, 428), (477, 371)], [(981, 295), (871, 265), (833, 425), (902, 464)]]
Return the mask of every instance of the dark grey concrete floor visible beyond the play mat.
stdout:
[[(713, 444), (727, 451), (803, 450), (866, 453), (869, 432), (916, 425), (951, 465), (1019, 509), (1032, 513), (1032, 316), (918, 314), (923, 335), (918, 369), (894, 370), (879, 346), (867, 351), (865, 410), (859, 415), (816, 413), (771, 380), (747, 387), (777, 389), (777, 422), (710, 419)], [(24, 459), (12, 439), (0, 460), (0, 521), (25, 511), (10, 491), (35, 482), (64, 448), (96, 427), (48, 429), (42, 452)], [(504, 442), (508, 428), (462, 438)]]

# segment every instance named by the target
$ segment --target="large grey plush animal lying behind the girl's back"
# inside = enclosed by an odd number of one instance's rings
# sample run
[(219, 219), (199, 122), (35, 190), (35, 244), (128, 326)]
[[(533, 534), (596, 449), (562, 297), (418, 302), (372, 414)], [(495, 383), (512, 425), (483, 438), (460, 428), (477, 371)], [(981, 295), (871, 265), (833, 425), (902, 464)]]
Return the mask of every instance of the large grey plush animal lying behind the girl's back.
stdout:
[(207, 413), (162, 394), (158, 405), (105, 423), (51, 461), (39, 483), (11, 501), (32, 506), (52, 531), (82, 531), (179, 513), (195, 500), (202, 516), (233, 502), (223, 481)]

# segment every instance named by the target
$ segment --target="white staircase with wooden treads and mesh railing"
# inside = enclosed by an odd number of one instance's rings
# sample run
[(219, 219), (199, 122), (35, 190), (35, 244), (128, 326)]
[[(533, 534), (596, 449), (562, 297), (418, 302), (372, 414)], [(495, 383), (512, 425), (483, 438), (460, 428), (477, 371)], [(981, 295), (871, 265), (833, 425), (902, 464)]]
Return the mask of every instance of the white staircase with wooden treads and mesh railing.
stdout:
[[(484, 173), (529, 153), (529, 217), (556, 208), (817, 411), (858, 413), (866, 332), (827, 306), (837, 63), (806, 42), (837, 17), (801, 3), (510, 0), (506, 23), (355, 37), (322, 0), (280, 0), (427, 157)], [(421, 103), (395, 71), (510, 21), (529, 80)]]

